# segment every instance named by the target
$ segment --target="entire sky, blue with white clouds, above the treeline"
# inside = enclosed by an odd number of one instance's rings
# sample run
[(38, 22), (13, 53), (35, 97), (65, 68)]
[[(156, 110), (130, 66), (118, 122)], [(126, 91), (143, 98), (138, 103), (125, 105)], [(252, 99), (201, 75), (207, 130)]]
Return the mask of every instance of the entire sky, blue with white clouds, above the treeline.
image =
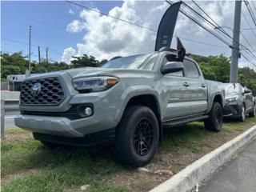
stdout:
[[(154, 30), (158, 29), (162, 14), (168, 7), (164, 1), (126, 0), (78, 3)], [(196, 8), (191, 1), (187, 3)], [(250, 4), (252, 5), (252, 2)], [(256, 5), (256, 2), (254, 4)], [(205, 1), (198, 2), (198, 5), (220, 26), (233, 28), (234, 2)], [(251, 27), (256, 28), (244, 3), (242, 3), (242, 12), (246, 15)], [(256, 9), (254, 13), (256, 15)], [(2, 51), (14, 53), (22, 50), (25, 55), (28, 54), (29, 26), (32, 26), (33, 60), (38, 60), (38, 46), (41, 46), (42, 58), (46, 57), (46, 47), (49, 47), (49, 58), (52, 61), (68, 63), (72, 56), (82, 54), (90, 54), (101, 60), (116, 55), (147, 53), (154, 51), (156, 38), (154, 31), (82, 9), (68, 2), (1, 2)], [(248, 27), (242, 15), (241, 29)], [(232, 35), (232, 30), (226, 29), (226, 32)], [(254, 33), (256, 34), (256, 30)], [(206, 56), (224, 54), (230, 57), (230, 48), (182, 14), (178, 16), (174, 34), (182, 38), (182, 43), (189, 53)], [(254, 51), (256, 50), (256, 35), (250, 30), (243, 30), (242, 34), (247, 40), (246, 42), (241, 37), (242, 44), (256, 54)], [(171, 47), (175, 48), (175, 43), (173, 40)], [(239, 65), (250, 64), (241, 58)]]

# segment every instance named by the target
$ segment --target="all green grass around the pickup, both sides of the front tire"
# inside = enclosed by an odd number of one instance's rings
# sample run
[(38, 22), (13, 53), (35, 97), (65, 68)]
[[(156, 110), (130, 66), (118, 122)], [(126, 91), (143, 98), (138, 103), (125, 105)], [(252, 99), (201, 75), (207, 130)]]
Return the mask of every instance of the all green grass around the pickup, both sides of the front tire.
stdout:
[[(255, 124), (256, 118), (247, 118), (244, 123), (225, 122), (217, 134), (205, 130), (202, 122), (166, 129), (154, 163), (161, 162), (162, 154), (170, 152), (199, 153), (206, 139), (239, 134)], [(6, 134), (22, 133), (23, 130), (8, 130)], [(79, 186), (86, 184), (90, 185), (86, 191), (126, 191), (126, 187), (108, 182), (114, 174), (127, 170), (114, 162), (110, 150), (74, 147), (50, 150), (32, 138), (2, 142), (1, 150), (2, 177), (12, 176), (2, 184), (2, 191), (79, 191)]]

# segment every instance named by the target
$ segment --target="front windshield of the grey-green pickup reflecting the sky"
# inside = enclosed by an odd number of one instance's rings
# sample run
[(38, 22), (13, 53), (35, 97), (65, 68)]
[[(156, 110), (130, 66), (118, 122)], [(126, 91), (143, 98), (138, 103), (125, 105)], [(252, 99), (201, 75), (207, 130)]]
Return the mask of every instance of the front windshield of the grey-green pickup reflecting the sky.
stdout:
[(137, 54), (124, 58), (116, 58), (110, 62), (106, 62), (102, 68), (117, 68), (126, 70), (142, 70), (145, 65), (143, 62), (149, 58), (150, 54)]

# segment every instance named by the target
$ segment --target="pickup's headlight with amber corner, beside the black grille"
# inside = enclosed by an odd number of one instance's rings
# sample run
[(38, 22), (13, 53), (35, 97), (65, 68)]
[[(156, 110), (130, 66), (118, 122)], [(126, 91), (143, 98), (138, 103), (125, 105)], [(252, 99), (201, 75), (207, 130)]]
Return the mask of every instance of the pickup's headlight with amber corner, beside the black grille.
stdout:
[(110, 89), (118, 83), (114, 77), (78, 78), (72, 81), (74, 89), (86, 92), (95, 92)]

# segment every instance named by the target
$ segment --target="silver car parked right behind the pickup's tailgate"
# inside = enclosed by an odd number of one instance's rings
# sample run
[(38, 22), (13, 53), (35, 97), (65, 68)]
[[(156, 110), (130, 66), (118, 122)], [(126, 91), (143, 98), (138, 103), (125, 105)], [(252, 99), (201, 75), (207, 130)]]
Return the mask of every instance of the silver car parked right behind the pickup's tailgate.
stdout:
[(256, 101), (251, 90), (239, 83), (224, 83), (226, 106), (223, 110), (225, 118), (237, 118), (244, 122), (246, 114), (256, 116)]

